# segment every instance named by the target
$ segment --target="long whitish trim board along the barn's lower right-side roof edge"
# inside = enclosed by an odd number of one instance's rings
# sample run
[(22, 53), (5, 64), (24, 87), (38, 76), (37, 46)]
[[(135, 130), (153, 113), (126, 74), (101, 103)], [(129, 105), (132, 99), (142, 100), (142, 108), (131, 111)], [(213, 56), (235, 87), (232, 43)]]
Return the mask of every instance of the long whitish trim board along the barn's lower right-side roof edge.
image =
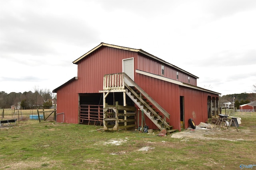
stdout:
[(179, 86), (184, 86), (184, 87), (193, 88), (193, 89), (196, 89), (196, 90), (201, 90), (201, 91), (204, 91), (204, 92), (209, 92), (209, 93), (220, 95), (220, 93), (218, 93), (218, 92), (213, 92), (211, 90), (207, 90), (207, 89), (204, 89), (204, 88), (200, 88), (198, 86), (193, 86), (193, 85), (190, 85), (190, 84), (179, 82), (177, 80), (172, 80), (170, 78), (166, 78), (166, 77), (159, 76), (159, 75), (156, 75), (156, 74), (152, 74), (152, 73), (149, 73), (149, 72), (144, 72), (144, 71), (141, 71), (141, 70), (135, 70), (135, 72), (138, 73), (138, 74), (143, 74), (145, 76), (157, 78), (159, 80), (164, 80), (166, 82), (170, 82), (170, 83), (173, 83), (173, 84), (178, 84)]

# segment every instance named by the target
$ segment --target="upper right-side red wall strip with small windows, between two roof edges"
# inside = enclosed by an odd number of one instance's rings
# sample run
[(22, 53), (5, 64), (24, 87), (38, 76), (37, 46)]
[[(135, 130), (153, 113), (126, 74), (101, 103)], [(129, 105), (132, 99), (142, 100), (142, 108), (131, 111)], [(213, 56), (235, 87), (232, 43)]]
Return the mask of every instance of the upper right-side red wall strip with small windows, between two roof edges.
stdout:
[[(141, 54), (138, 55), (138, 66), (137, 66), (138, 70), (162, 76), (161, 66), (162, 64), (159, 63), (159, 61), (149, 59), (148, 57), (145, 57)], [(178, 79), (177, 79), (177, 71), (178, 71)], [(190, 76), (190, 82), (188, 83), (188, 76), (189, 75), (186, 73), (176, 70), (175, 68), (172, 68), (168, 65), (164, 65), (164, 77), (196, 86), (196, 78)]]

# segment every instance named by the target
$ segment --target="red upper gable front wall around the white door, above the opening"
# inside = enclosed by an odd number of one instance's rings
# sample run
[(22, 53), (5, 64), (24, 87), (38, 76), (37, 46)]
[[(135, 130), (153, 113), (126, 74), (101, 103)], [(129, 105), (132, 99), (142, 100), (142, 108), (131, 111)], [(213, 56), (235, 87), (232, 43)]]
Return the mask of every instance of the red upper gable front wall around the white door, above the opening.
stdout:
[(137, 53), (111, 47), (94, 51), (78, 64), (78, 93), (98, 93), (103, 90), (105, 74), (122, 72), (122, 59), (134, 57)]

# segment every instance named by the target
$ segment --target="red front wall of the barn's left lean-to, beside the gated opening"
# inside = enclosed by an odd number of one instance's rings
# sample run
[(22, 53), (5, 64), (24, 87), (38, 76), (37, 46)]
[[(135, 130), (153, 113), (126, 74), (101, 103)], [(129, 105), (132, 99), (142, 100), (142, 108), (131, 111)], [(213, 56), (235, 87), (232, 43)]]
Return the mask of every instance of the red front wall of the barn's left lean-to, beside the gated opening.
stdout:
[[(64, 112), (65, 123), (78, 123), (77, 80), (60, 88), (57, 92), (57, 113)], [(57, 116), (57, 122), (62, 122), (62, 115)]]

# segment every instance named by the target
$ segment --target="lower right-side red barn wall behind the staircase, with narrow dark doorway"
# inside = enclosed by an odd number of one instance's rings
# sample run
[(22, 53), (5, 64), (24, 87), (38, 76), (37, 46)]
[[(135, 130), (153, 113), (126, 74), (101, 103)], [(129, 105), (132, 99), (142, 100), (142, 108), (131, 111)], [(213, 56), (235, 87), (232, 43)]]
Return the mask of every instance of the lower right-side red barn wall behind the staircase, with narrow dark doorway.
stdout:
[[(218, 98), (217, 94), (179, 86), (138, 73), (135, 76), (135, 82), (170, 114), (170, 125), (179, 130), (180, 96), (184, 96), (184, 128), (189, 127), (188, 119), (190, 118), (196, 125), (206, 122), (208, 120), (207, 98), (208, 96)], [(150, 119), (146, 118), (146, 124), (150, 128), (157, 129)]]

